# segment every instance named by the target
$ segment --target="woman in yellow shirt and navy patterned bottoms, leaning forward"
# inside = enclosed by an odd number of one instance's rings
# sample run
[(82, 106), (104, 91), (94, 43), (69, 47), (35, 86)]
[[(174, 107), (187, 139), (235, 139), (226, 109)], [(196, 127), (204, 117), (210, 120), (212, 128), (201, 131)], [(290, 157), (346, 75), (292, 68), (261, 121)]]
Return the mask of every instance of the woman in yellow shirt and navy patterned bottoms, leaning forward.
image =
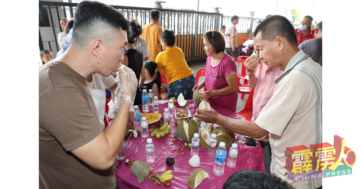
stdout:
[(179, 94), (183, 93), (184, 99), (191, 100), (196, 78), (187, 65), (183, 51), (174, 44), (174, 31), (164, 30), (161, 34), (161, 45), (164, 51), (157, 55), (157, 68), (163, 71), (169, 81), (168, 98), (178, 98)]

